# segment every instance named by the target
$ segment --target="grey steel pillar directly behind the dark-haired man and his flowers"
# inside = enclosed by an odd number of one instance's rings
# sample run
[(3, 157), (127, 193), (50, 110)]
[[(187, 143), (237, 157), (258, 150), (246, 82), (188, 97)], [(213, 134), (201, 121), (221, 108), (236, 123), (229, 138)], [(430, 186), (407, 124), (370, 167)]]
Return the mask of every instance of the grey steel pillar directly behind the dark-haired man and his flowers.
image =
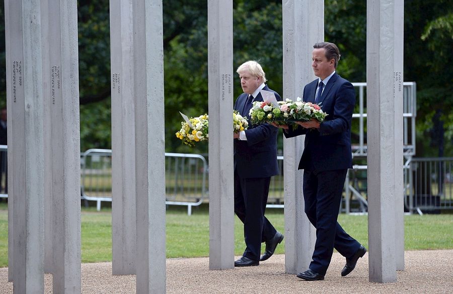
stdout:
[[(316, 77), (312, 51), (324, 40), (324, 0), (291, 0), (283, 10), (283, 99), (302, 97)], [(297, 170), (305, 136), (283, 140), (285, 191), (285, 271), (305, 271), (312, 260), (316, 229), (305, 214), (303, 170)]]

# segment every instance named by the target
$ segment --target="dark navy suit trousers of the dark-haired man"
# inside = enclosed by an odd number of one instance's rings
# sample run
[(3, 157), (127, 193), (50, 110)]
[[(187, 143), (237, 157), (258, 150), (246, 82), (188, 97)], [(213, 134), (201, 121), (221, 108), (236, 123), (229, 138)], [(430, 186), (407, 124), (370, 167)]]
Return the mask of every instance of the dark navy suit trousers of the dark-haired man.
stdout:
[(360, 243), (337, 222), (347, 169), (314, 172), (304, 170), (305, 213), (316, 228), (316, 243), (310, 269), (326, 274), (335, 248), (352, 257)]

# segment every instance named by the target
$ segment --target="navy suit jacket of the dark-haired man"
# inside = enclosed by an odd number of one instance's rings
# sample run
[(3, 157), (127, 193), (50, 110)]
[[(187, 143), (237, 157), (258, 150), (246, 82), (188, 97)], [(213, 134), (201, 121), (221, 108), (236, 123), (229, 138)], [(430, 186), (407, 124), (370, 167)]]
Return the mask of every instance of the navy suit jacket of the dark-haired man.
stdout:
[[(315, 102), (318, 79), (304, 88), (304, 101)], [(299, 169), (325, 171), (352, 168), (351, 120), (355, 105), (352, 84), (335, 73), (328, 81), (318, 104), (327, 112), (319, 129), (299, 126), (283, 132), (286, 138), (306, 134)]]

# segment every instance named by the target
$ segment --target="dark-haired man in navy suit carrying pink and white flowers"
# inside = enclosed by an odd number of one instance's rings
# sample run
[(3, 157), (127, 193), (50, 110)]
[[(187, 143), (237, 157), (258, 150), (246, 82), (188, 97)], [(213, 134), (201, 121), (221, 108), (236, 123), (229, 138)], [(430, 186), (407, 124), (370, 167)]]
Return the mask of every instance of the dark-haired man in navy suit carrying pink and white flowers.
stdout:
[(366, 249), (338, 224), (341, 195), (348, 168), (352, 168), (351, 120), (355, 91), (336, 72), (340, 59), (333, 43), (316, 43), (313, 50), (315, 81), (304, 88), (304, 101), (321, 104), (328, 116), (297, 122), (296, 130), (283, 126), (286, 138), (306, 135), (298, 169), (304, 169), (305, 213), (316, 227), (316, 243), (309, 269), (297, 274), (305, 280), (323, 280), (335, 248), (346, 257), (341, 275), (349, 274)]

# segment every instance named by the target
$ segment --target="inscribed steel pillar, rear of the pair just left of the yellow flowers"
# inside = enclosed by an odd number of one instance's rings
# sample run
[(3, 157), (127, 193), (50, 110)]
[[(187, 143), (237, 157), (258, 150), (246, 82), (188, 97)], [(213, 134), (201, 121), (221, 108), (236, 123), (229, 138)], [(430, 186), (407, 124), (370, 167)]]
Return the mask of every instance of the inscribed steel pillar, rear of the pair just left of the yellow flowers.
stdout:
[(134, 274), (135, 115), (132, 0), (110, 0), (112, 271)]

